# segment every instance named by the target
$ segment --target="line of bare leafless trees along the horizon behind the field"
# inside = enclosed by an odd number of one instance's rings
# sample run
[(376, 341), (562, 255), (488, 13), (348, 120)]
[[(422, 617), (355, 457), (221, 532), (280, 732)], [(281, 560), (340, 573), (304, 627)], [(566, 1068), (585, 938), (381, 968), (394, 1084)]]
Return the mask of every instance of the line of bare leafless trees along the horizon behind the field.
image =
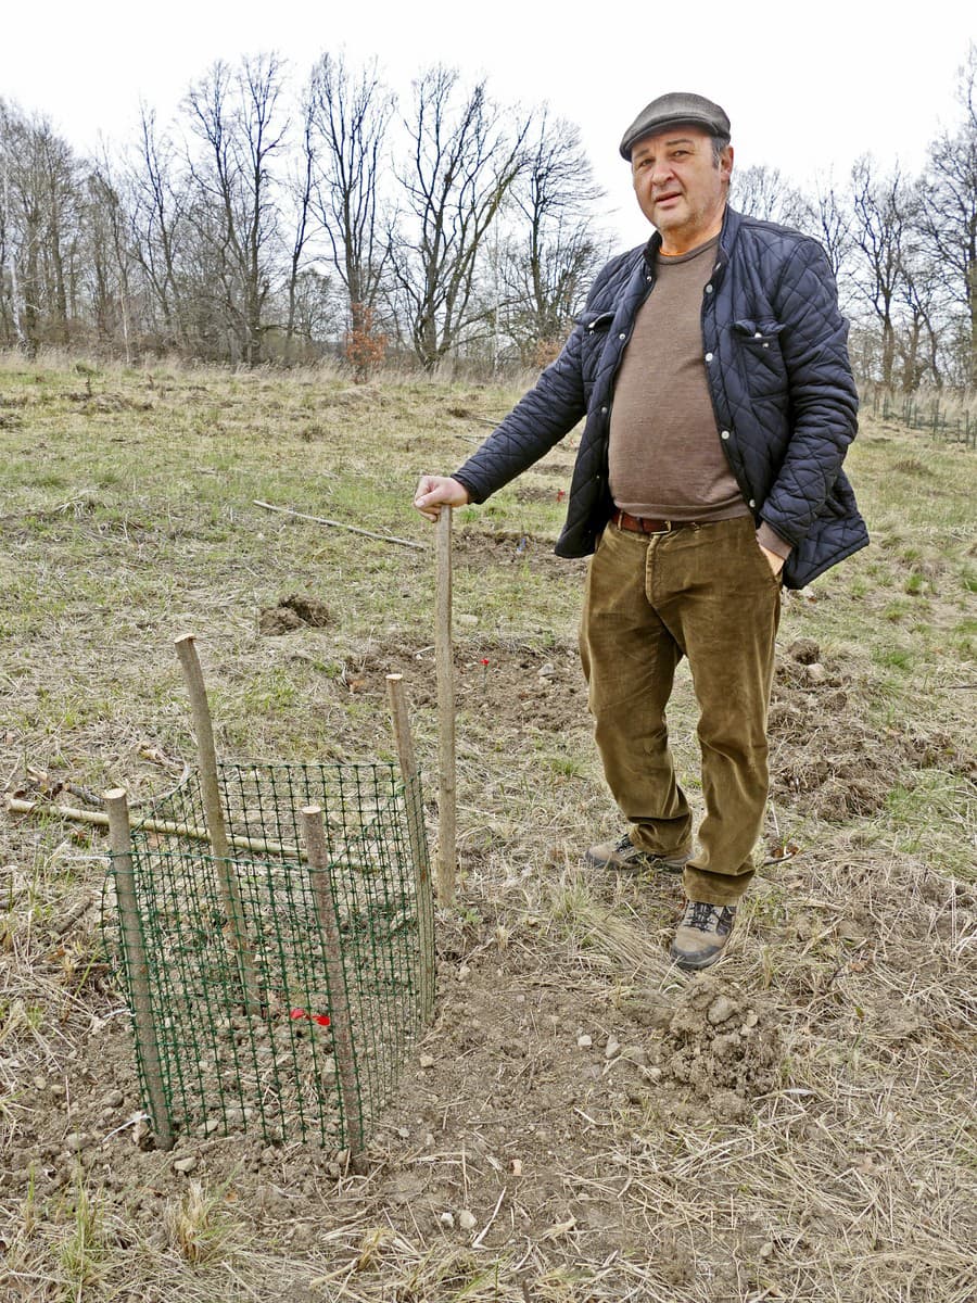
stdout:
[[(862, 380), (977, 390), (977, 44), (918, 176), (870, 154), (731, 202), (822, 241)], [(0, 98), (0, 347), (257, 366), (343, 354), (545, 365), (612, 251), (578, 128), (432, 65), (214, 64), (169, 124), (82, 158)]]

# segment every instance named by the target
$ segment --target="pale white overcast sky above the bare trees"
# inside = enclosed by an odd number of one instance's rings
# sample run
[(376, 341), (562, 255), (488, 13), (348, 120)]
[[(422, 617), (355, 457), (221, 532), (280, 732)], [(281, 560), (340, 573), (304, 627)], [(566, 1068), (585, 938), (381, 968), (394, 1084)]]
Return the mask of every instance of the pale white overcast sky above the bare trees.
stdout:
[[(977, 20), (967, 0), (929, 0), (900, 17), (868, 0), (818, 4), (621, 5), (614, 0), (466, 4), (405, 0), (53, 0), (0, 18), (0, 96), (46, 113), (78, 150), (132, 141), (139, 100), (165, 124), (216, 60), (276, 51), (297, 90), (314, 59), (374, 55), (401, 96), (434, 63), (488, 78), (504, 103), (547, 100), (576, 121), (607, 190), (607, 227), (623, 242), (647, 227), (617, 155), (624, 129), (668, 90), (718, 100), (732, 120), (736, 165), (766, 163), (801, 186), (844, 182), (873, 152), (917, 171), (941, 126), (957, 120), (956, 72)], [(637, 16), (637, 17), (636, 17)]]

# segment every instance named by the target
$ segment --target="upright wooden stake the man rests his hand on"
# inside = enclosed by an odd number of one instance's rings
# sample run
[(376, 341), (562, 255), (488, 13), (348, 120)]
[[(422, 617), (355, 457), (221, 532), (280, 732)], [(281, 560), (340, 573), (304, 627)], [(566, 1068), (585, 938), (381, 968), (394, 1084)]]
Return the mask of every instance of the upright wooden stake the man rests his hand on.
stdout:
[(434, 657), (438, 676), (438, 903), (455, 900), (455, 663), (451, 646), (451, 507), (442, 507), (435, 533)]

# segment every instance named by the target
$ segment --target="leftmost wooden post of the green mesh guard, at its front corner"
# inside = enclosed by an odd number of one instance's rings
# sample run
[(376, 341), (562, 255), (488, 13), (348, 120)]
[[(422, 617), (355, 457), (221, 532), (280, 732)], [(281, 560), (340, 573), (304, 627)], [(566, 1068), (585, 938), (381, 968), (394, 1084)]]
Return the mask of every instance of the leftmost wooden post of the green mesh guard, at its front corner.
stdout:
[(149, 963), (139, 924), (139, 906), (135, 899), (135, 878), (133, 874), (132, 839), (129, 833), (129, 803), (125, 791), (113, 787), (104, 796), (108, 812), (108, 838), (112, 848), (112, 863), (116, 873), (116, 895), (119, 898), (119, 921), (125, 952), (125, 971), (133, 999), (133, 1024), (135, 1045), (146, 1074), (146, 1091), (150, 1097), (152, 1127), (160, 1149), (173, 1148), (173, 1130), (163, 1089), (163, 1071), (159, 1063), (156, 1027), (152, 1022), (152, 998), (150, 995)]

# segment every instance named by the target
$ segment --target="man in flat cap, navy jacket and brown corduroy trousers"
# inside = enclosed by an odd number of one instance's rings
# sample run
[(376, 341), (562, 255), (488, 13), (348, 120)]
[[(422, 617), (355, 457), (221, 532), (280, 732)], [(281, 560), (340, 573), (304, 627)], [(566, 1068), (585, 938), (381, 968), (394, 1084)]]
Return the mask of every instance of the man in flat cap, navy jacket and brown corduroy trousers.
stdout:
[[(453, 477), (422, 477), (414, 506), (434, 519), (483, 502), (586, 416), (556, 552), (594, 552), (581, 654), (630, 823), (588, 860), (684, 870), (671, 956), (696, 971), (753, 876), (780, 585), (868, 542), (842, 472), (857, 395), (823, 249), (727, 205), (723, 109), (662, 95), (620, 152), (655, 233), (603, 268), (558, 360)], [(664, 717), (683, 655), (700, 706), (694, 855)]]

